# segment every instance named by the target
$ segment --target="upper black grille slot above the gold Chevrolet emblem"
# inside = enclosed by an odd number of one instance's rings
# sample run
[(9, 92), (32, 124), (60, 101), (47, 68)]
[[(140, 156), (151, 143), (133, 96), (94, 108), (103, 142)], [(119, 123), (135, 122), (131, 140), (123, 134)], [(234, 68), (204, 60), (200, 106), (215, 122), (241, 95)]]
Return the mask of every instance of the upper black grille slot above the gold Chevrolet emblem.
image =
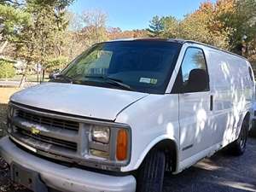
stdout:
[(43, 125), (43, 126), (47, 125), (50, 127), (57, 127), (57, 128), (62, 128), (62, 129), (67, 129), (72, 131), (79, 131), (78, 122), (73, 122), (73, 121), (64, 120), (64, 119), (53, 119), (53, 118), (45, 117), (43, 115), (29, 113), (20, 109), (17, 110), (17, 116), (20, 117), (21, 119), (28, 120), (38, 125)]

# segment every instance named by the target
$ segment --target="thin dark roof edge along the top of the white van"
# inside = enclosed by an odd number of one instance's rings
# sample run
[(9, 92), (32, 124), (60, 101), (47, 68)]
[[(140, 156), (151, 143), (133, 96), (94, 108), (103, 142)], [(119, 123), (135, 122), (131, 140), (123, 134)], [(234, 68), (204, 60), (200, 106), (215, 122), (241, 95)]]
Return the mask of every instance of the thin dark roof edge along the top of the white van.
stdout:
[(193, 40), (185, 40), (185, 39), (180, 39), (180, 38), (121, 38), (121, 39), (115, 39), (115, 40), (111, 40), (108, 42), (119, 42), (119, 41), (166, 41), (166, 42), (173, 42), (173, 43), (177, 43), (177, 44), (201, 44), (203, 46), (206, 46), (208, 48), (212, 48), (212, 49), (217, 49), (219, 51), (222, 51), (224, 53), (230, 54), (230, 55), (235, 55), (238, 56), (244, 60), (247, 60), (247, 58), (241, 56), (241, 55), (237, 55), (235, 53), (232, 53), (228, 50), (224, 50), (224, 49), (219, 49), (218, 47), (209, 45), (209, 44), (203, 44), (201, 42), (197, 42), (197, 41), (193, 41)]

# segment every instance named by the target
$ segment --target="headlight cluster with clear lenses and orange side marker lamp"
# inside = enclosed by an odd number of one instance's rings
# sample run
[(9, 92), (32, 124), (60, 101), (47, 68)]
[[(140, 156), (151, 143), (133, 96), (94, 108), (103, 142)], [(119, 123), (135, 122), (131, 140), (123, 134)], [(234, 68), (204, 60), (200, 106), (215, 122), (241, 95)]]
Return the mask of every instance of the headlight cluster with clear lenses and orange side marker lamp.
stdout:
[[(90, 125), (89, 154), (96, 160), (120, 166), (131, 158), (131, 128), (128, 125)], [(99, 159), (101, 158), (101, 159)], [(102, 169), (106, 169), (102, 168)]]

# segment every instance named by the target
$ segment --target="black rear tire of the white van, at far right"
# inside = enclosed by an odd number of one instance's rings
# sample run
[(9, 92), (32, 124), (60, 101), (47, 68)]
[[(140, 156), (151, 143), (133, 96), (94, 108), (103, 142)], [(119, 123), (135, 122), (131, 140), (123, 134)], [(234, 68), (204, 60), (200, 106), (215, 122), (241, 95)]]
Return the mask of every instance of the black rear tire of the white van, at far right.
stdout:
[(245, 152), (247, 147), (247, 137), (248, 137), (248, 121), (244, 119), (241, 125), (241, 131), (238, 139), (234, 143), (230, 144), (230, 152), (234, 155), (241, 155)]

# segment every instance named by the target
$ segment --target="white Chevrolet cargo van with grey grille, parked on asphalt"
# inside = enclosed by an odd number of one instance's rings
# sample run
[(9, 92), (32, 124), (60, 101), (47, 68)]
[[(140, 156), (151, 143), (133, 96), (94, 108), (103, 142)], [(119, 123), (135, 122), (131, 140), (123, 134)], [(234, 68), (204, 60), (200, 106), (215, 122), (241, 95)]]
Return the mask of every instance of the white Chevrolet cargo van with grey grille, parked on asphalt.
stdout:
[(10, 98), (0, 154), (34, 191), (160, 192), (230, 144), (243, 154), (254, 78), (243, 57), (192, 41), (95, 44)]

